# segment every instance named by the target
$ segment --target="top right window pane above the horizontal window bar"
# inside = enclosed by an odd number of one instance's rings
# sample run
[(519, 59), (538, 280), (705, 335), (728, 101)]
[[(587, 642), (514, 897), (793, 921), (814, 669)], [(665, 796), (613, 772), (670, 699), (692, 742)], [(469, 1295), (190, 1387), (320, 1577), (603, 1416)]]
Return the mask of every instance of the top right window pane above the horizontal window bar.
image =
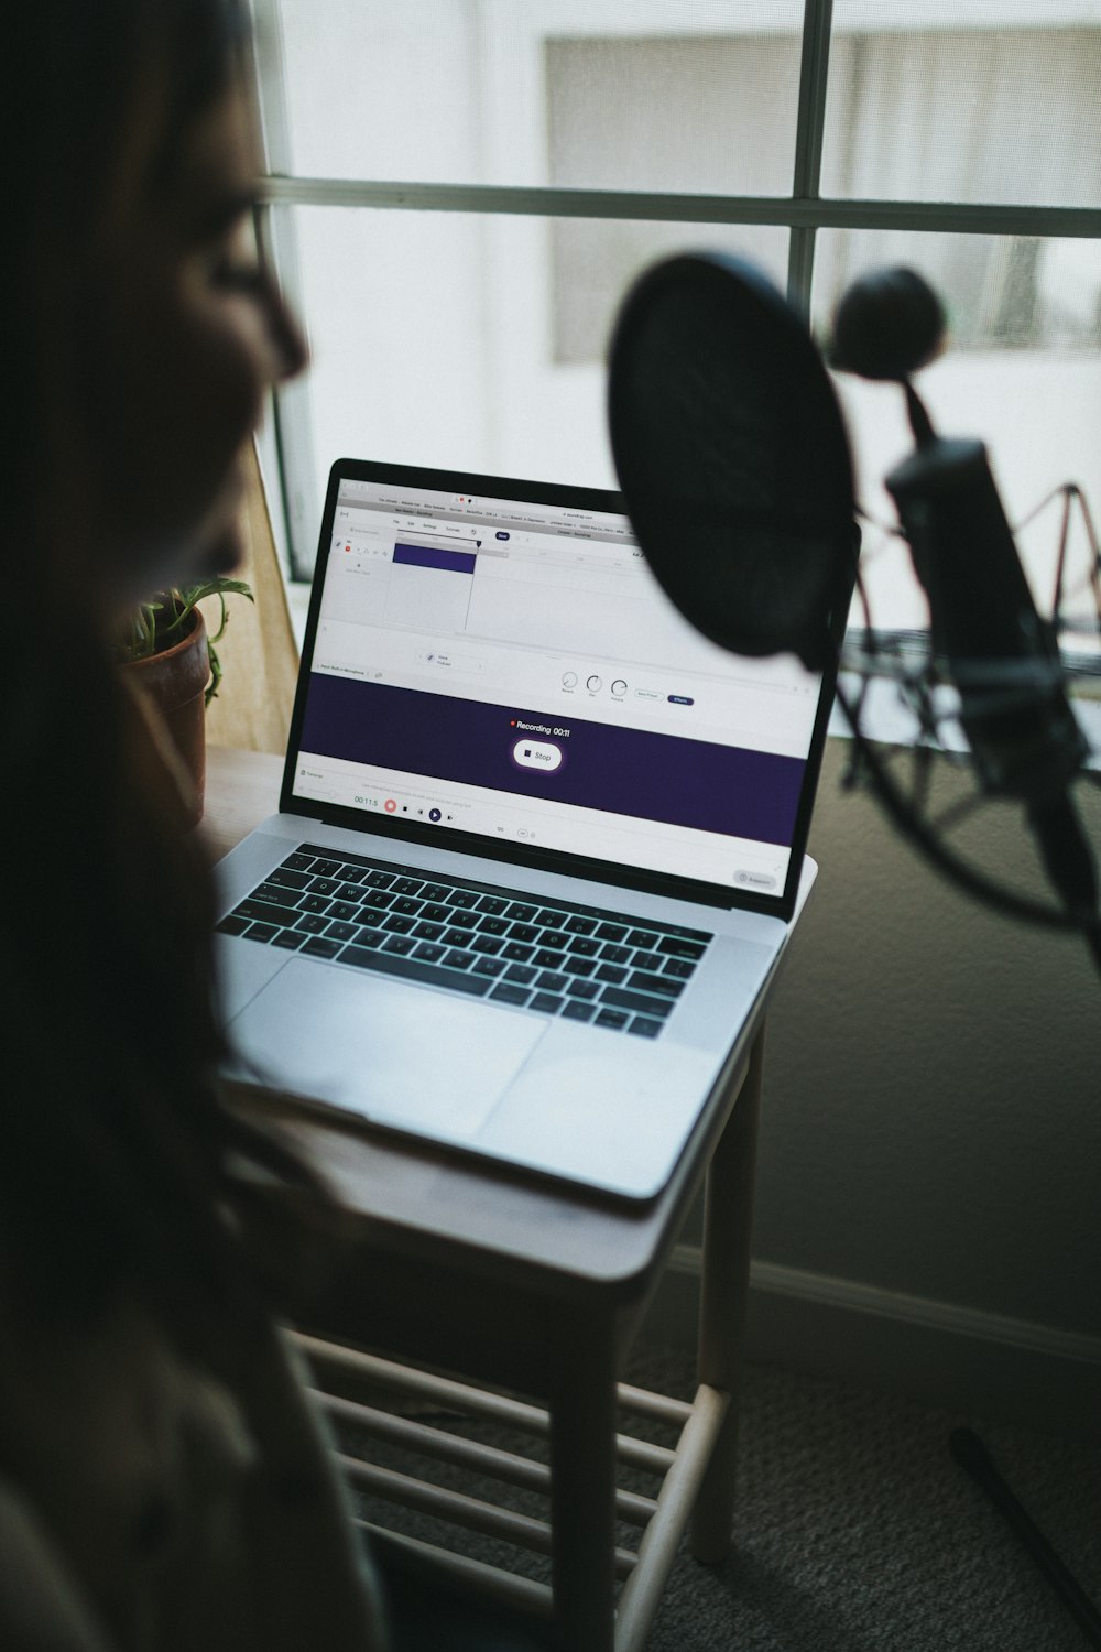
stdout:
[(1098, 0), (835, 0), (822, 193), (1101, 205)]

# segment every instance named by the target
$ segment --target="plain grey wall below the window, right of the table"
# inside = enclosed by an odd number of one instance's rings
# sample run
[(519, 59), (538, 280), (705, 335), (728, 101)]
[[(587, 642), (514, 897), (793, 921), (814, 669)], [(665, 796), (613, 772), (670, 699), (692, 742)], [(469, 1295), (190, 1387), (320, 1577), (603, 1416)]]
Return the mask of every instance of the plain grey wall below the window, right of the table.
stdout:
[[(769, 1018), (748, 1353), (1101, 1427), (1101, 980), (1076, 937), (918, 861), (842, 790), (848, 752), (830, 740), (819, 885)], [(1028, 877), (1002, 813), (971, 838)], [(665, 1330), (690, 1333), (695, 1270), (682, 1249)]]

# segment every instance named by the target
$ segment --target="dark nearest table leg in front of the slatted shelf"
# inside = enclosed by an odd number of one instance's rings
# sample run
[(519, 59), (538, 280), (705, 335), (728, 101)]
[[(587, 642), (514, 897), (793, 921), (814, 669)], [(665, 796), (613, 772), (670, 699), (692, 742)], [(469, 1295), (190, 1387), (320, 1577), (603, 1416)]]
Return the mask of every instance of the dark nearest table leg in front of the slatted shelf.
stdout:
[(550, 1411), (555, 1619), (571, 1652), (611, 1652), (616, 1365), (607, 1323), (571, 1318)]

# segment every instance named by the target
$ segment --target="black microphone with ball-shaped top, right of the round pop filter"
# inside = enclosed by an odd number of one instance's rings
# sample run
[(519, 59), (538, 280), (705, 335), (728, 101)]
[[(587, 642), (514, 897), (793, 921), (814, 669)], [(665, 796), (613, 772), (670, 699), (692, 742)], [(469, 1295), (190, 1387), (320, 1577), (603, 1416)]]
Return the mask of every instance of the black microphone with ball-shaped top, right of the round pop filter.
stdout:
[(914, 453), (885, 486), (929, 600), (934, 666), (959, 694), (981, 786), (1023, 805), (1051, 887), (1101, 955), (1093, 854), (1068, 795), (1089, 748), (1055, 628), (1037, 611), (985, 446), (938, 436), (910, 383), (943, 339), (944, 314), (921, 276), (877, 271), (839, 306), (834, 363), (905, 388)]

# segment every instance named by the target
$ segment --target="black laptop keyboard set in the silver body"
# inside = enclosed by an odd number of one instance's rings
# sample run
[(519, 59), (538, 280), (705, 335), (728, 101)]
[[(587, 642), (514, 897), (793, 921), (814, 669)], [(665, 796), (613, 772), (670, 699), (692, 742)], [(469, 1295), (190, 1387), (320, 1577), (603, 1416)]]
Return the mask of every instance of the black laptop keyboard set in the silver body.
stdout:
[(713, 938), (304, 843), (218, 925), (264, 947), (659, 1037)]

